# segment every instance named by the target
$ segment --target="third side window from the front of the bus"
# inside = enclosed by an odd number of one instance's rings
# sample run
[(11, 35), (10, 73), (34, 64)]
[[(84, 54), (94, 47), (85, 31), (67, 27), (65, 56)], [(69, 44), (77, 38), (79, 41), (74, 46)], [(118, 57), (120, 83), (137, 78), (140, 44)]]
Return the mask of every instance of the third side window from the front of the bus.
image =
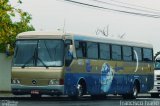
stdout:
[(100, 58), (110, 59), (110, 46), (109, 44), (99, 44), (100, 48)]

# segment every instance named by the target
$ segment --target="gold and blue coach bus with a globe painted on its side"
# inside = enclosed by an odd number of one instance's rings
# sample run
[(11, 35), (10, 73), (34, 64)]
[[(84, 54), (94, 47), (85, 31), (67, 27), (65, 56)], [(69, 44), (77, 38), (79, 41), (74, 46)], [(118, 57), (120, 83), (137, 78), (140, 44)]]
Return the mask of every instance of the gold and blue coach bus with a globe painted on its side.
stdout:
[(15, 95), (136, 98), (153, 88), (151, 44), (43, 31), (23, 32), (16, 39), (11, 72)]

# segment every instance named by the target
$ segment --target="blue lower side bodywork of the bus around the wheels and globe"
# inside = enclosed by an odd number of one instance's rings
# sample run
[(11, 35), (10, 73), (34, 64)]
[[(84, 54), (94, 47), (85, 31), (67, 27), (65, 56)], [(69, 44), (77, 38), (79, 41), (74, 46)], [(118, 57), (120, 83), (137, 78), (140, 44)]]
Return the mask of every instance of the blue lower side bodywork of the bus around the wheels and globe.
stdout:
[[(150, 90), (153, 86), (153, 75), (136, 75), (137, 79), (140, 81), (141, 92), (145, 93)], [(65, 74), (65, 93), (66, 94), (76, 94), (76, 85), (79, 78), (84, 78), (87, 85), (87, 91), (89, 94), (100, 94), (101, 83), (100, 74), (90, 74), (90, 73), (66, 73)], [(146, 82), (148, 78), (148, 82)], [(135, 80), (134, 75), (131, 74), (115, 74), (111, 88), (107, 92), (108, 94), (124, 94), (132, 91), (133, 81)]]

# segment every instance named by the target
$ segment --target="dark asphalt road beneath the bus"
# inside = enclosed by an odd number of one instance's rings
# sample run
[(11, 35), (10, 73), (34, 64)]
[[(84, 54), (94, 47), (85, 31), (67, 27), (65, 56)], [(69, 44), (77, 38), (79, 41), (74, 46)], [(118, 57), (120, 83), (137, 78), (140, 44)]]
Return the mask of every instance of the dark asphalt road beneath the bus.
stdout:
[(125, 100), (121, 96), (108, 96), (105, 99), (91, 99), (86, 96), (80, 100), (68, 97), (0, 97), (0, 106), (160, 106), (160, 98), (141, 95), (137, 99)]

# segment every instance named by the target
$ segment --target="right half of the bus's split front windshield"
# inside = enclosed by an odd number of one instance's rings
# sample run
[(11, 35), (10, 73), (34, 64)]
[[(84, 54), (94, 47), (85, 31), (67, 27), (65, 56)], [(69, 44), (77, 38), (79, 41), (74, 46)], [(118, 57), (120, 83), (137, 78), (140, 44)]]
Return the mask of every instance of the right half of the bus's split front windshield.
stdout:
[(63, 50), (62, 40), (39, 40), (37, 66), (62, 66)]

